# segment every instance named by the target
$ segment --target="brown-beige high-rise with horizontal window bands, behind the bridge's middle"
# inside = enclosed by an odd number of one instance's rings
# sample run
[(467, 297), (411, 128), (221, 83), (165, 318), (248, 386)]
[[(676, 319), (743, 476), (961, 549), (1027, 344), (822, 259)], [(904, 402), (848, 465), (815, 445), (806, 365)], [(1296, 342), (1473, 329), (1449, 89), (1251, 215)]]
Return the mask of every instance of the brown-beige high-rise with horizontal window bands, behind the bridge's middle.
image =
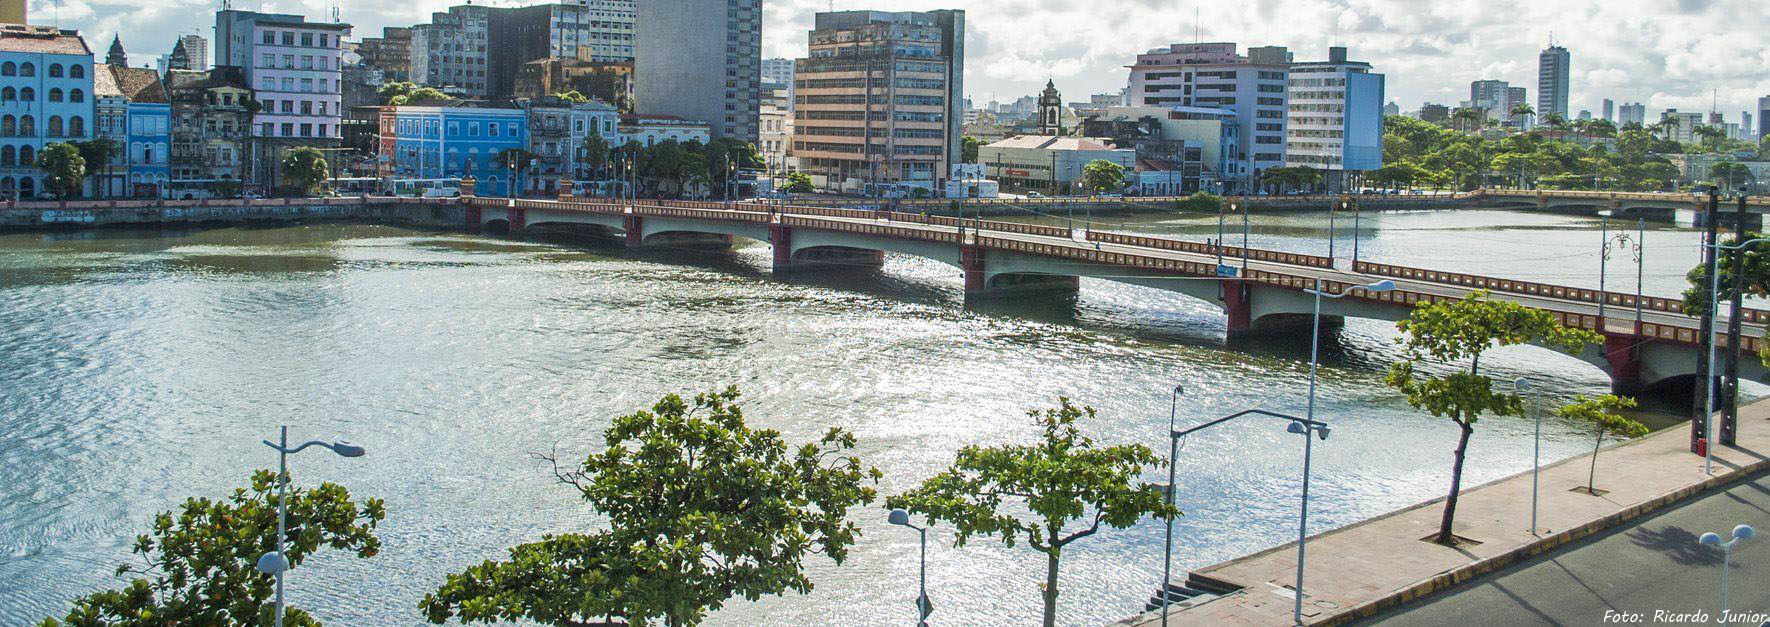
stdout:
[(945, 186), (963, 140), (965, 11), (820, 12), (807, 39), (793, 71), (800, 172), (837, 190)]

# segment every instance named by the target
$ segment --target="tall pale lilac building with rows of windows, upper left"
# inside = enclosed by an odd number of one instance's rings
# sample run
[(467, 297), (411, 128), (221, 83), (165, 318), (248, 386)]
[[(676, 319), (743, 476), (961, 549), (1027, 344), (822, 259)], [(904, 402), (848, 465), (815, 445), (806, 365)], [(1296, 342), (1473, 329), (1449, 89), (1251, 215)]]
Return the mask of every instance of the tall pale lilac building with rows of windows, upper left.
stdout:
[(216, 66), (244, 67), (262, 106), (253, 115), (253, 181), (283, 186), (283, 152), (338, 147), (343, 37), (350, 25), (294, 14), (216, 12)]

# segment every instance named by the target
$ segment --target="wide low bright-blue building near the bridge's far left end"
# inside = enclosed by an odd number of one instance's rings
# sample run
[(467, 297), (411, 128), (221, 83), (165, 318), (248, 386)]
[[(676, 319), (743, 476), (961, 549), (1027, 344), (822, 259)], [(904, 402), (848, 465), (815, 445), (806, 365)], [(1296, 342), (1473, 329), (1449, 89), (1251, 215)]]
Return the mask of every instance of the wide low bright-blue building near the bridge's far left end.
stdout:
[(512, 168), (497, 159), (527, 149), (529, 113), (487, 103), (384, 106), (381, 175), (384, 179), (478, 179), (478, 193), (510, 195)]

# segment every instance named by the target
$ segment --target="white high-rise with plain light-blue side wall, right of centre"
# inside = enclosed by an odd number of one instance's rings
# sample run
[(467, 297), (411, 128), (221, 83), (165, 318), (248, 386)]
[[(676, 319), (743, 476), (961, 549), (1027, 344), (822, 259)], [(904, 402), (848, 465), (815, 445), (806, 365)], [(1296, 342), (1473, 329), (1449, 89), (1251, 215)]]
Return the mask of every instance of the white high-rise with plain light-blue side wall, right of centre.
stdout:
[(1382, 166), (1384, 76), (1328, 48), (1328, 60), (1290, 66), (1285, 165), (1326, 170), (1329, 191), (1347, 172)]

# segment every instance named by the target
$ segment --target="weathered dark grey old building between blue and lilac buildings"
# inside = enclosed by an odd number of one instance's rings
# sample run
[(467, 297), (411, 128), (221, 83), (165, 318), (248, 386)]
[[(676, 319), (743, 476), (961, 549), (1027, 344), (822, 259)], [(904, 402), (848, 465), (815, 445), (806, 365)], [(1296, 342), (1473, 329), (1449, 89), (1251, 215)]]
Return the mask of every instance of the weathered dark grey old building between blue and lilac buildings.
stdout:
[(172, 197), (253, 182), (248, 159), (257, 104), (246, 71), (232, 66), (172, 71), (165, 81), (172, 101)]

